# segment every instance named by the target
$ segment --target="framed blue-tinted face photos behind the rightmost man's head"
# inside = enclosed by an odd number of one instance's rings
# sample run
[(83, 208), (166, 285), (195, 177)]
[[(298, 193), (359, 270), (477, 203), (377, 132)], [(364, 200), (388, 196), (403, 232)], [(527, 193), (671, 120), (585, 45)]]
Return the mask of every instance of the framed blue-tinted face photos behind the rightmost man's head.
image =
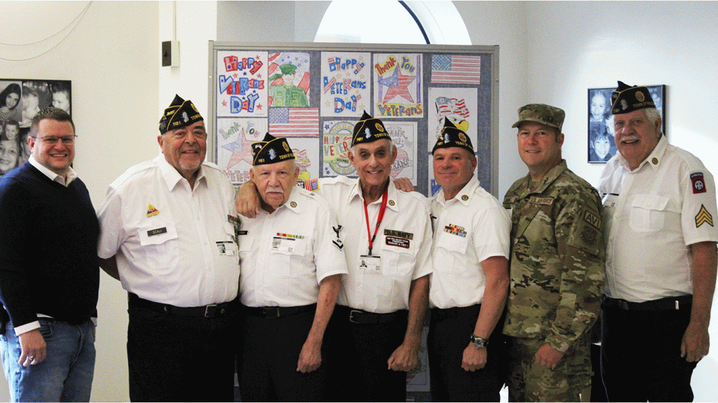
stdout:
[[(656, 108), (661, 112), (662, 130), (666, 133), (666, 85), (646, 85)], [(589, 88), (587, 102), (587, 143), (589, 163), (606, 163), (618, 152), (613, 133), (611, 93), (615, 87)]]

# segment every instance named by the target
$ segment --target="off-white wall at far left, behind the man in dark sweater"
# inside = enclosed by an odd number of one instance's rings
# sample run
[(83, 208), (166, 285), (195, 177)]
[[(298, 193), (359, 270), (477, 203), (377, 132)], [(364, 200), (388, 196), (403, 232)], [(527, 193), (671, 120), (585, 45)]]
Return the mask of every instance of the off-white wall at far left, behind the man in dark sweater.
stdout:
[[(86, 4), (1, 1), (0, 25), (5, 29), (1, 42), (27, 43), (31, 37), (49, 37), (78, 16)], [(22, 27), (28, 27), (31, 19), (29, 36)], [(0, 57), (13, 58), (16, 52), (24, 54), (22, 49), (3, 48)], [(0, 76), (72, 80), (78, 134), (74, 168), (87, 184), (96, 208), (111, 181), (132, 164), (157, 155), (158, 66), (157, 3), (94, 1), (77, 28), (55, 49), (24, 62), (0, 60)], [(129, 399), (126, 300), (119, 282), (103, 273), (95, 343), (95, 401)], [(0, 376), (0, 401), (8, 400), (7, 383)]]

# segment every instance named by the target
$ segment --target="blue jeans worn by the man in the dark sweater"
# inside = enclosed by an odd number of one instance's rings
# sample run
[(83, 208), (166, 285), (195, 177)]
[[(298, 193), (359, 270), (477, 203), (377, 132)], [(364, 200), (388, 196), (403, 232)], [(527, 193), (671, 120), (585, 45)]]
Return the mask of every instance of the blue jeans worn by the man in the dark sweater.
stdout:
[(95, 371), (95, 325), (39, 319), (47, 358), (22, 366), (20, 342), (8, 323), (0, 336), (1, 355), (11, 402), (89, 402)]

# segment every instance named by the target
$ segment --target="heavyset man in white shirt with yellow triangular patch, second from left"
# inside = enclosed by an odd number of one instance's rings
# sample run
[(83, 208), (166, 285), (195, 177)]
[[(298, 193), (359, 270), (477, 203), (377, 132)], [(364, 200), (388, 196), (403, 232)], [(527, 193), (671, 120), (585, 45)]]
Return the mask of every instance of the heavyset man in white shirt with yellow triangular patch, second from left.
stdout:
[(159, 132), (162, 155), (113, 181), (98, 213), (101, 267), (129, 293), (130, 399), (230, 401), (234, 189), (203, 162), (207, 132), (190, 100), (175, 96)]

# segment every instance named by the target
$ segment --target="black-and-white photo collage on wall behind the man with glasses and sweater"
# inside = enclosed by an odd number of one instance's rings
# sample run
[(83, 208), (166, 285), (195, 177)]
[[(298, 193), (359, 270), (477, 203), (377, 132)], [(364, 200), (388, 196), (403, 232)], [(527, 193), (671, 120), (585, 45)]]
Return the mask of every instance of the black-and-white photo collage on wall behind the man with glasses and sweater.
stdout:
[(29, 158), (34, 115), (50, 105), (72, 115), (71, 104), (69, 80), (0, 80), (0, 176)]

